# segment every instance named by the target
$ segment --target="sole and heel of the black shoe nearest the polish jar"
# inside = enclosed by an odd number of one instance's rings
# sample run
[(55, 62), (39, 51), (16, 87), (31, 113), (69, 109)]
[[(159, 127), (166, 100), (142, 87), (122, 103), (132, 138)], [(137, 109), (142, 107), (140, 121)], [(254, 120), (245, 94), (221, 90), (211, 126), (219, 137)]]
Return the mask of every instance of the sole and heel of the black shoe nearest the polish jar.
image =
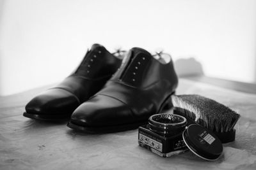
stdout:
[[(156, 113), (160, 113), (163, 110), (168, 110), (173, 107), (172, 105), (172, 95), (175, 94), (173, 92), (170, 96), (168, 96), (163, 104), (161, 105), (159, 111)], [(74, 129), (76, 131), (80, 132), (88, 132), (88, 133), (108, 133), (108, 132), (121, 132), (121, 131), (129, 131), (132, 129), (137, 129), (141, 125), (148, 124), (148, 118), (147, 120), (142, 120), (141, 122), (136, 122), (132, 124), (124, 124), (124, 125), (113, 125), (113, 126), (104, 126), (104, 127), (86, 127), (86, 126), (81, 126), (77, 125), (74, 122), (68, 122), (67, 127), (70, 127), (71, 129)]]

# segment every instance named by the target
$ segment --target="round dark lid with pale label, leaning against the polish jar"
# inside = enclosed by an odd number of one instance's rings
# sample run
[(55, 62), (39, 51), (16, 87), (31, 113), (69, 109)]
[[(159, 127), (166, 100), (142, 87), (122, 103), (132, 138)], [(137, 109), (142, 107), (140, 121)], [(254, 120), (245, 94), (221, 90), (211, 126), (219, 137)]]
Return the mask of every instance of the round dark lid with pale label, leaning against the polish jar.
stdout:
[(205, 160), (217, 160), (223, 152), (220, 139), (205, 127), (197, 124), (189, 125), (182, 138), (191, 152)]

